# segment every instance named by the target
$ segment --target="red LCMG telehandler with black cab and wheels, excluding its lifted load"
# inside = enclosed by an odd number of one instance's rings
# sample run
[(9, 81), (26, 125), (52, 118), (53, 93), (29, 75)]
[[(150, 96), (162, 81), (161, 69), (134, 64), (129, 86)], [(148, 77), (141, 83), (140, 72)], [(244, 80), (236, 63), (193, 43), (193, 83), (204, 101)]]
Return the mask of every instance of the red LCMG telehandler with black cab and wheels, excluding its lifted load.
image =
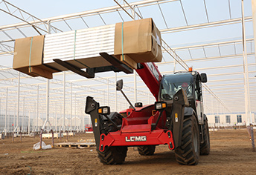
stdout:
[(153, 155), (157, 145), (168, 145), (182, 165), (196, 165), (199, 154), (210, 153), (208, 119), (203, 113), (202, 86), (205, 73), (196, 71), (161, 76), (151, 62), (138, 64), (136, 72), (150, 89), (156, 102), (135, 106), (129, 102), (117, 82), (117, 90), (130, 107), (120, 113), (110, 112), (91, 96), (86, 98), (86, 113), (91, 116), (100, 162), (122, 164), (127, 147), (138, 147), (141, 155)]

